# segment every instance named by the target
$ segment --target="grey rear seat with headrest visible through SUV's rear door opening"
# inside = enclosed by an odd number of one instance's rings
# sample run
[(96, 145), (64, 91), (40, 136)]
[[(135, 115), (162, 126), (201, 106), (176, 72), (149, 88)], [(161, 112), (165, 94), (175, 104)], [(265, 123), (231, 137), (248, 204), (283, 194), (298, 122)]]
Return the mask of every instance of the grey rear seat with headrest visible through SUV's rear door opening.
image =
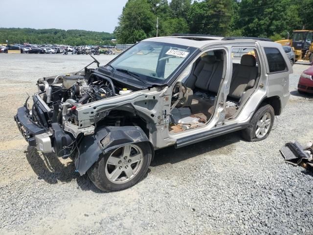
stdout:
[(240, 65), (234, 67), (228, 97), (240, 100), (242, 94), (254, 87), (258, 75), (258, 67), (253, 55), (245, 54), (241, 57)]

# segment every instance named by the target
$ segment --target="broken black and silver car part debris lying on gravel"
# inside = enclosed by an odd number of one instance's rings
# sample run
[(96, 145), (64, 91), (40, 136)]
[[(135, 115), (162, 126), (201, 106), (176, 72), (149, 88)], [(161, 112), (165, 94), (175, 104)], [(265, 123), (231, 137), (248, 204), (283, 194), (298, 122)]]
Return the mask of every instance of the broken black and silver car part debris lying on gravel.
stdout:
[(303, 147), (298, 141), (288, 142), (280, 150), (285, 161), (304, 168), (313, 167), (313, 143), (310, 141)]

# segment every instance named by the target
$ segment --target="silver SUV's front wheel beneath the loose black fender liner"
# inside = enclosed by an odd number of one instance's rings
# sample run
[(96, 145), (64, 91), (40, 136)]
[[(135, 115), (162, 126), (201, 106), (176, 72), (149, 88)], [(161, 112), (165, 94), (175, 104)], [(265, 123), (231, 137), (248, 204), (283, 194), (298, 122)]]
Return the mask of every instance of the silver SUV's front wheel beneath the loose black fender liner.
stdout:
[(152, 150), (148, 142), (131, 143), (101, 154), (88, 170), (92, 183), (103, 191), (134, 186), (147, 173)]

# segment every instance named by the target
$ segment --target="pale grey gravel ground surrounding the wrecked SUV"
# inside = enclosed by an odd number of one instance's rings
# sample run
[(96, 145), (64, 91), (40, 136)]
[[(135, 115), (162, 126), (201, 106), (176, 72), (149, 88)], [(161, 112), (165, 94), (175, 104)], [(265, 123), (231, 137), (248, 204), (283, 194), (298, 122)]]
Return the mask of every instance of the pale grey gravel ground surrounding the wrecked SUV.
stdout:
[(290, 101), (265, 141), (232, 133), (158, 150), (144, 180), (103, 193), (70, 160), (27, 146), (13, 120), (39, 77), (89, 61), (0, 54), (0, 234), (313, 234), (313, 173), (279, 153), (288, 141), (313, 140), (313, 96), (296, 91), (307, 64), (293, 66)]

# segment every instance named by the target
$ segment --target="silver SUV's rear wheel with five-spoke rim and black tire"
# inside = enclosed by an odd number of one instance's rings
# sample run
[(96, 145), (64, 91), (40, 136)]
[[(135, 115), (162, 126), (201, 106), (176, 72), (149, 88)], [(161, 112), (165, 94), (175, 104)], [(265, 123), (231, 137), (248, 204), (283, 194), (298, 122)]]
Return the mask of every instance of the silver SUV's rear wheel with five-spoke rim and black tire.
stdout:
[(242, 130), (242, 138), (246, 141), (262, 141), (268, 138), (274, 124), (275, 112), (271, 105), (262, 104), (254, 113), (249, 126)]

